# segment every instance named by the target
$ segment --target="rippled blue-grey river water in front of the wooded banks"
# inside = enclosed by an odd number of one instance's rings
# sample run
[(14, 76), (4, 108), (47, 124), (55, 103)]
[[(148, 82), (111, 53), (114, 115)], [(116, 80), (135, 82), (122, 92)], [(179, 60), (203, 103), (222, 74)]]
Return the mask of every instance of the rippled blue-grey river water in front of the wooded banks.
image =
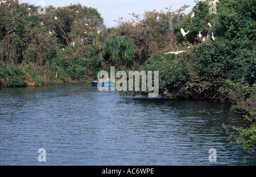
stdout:
[(242, 116), (209, 100), (133, 100), (89, 83), (1, 88), (0, 165), (255, 165), (223, 123)]

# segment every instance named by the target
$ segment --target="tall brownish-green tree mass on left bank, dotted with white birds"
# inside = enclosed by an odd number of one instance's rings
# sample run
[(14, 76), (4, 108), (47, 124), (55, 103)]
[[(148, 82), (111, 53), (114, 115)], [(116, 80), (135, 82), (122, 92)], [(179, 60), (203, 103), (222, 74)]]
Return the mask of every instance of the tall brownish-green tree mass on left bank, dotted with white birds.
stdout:
[[(104, 28), (96, 9), (80, 4), (48, 6), (40, 15), (29, 3), (8, 1), (0, 6), (0, 61), (9, 68), (1, 70), (1, 86), (85, 81), (94, 75), (97, 69), (89, 69), (93, 57), (87, 53)], [(13, 78), (19, 67), (24, 82)]]

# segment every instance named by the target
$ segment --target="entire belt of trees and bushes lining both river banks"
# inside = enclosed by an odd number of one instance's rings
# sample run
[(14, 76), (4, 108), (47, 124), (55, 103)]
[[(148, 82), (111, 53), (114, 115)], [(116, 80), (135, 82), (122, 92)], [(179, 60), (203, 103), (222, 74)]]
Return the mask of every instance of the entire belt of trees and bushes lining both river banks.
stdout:
[[(223, 127), (255, 153), (256, 4), (219, 1), (216, 14), (208, 1), (198, 1), (187, 15), (187, 6), (146, 11), (108, 29), (96, 9), (80, 4), (48, 6), (40, 15), (38, 6), (1, 3), (0, 87), (86, 82), (110, 66), (159, 71), (160, 95), (220, 100), (243, 113), (247, 127)], [(165, 54), (176, 50), (188, 52)]]

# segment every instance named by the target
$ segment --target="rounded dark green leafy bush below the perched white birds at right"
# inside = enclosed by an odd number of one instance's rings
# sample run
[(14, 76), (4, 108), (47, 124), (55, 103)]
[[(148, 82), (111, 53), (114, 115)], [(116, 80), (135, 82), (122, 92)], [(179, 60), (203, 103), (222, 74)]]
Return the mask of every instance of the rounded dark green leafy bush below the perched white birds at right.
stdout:
[(233, 82), (255, 81), (255, 41), (219, 40), (217, 43), (201, 44), (192, 54), (195, 69), (201, 78), (218, 86), (229, 79)]

